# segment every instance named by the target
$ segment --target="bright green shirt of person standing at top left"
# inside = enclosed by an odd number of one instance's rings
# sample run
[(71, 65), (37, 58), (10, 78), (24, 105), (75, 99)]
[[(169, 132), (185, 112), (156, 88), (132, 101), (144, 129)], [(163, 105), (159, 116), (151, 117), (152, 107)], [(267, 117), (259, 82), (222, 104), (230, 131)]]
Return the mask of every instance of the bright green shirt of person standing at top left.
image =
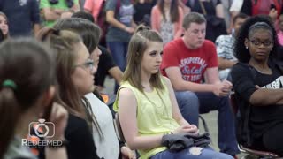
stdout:
[[(78, 5), (79, 0), (73, 0), (73, 4)], [(41, 0), (40, 1), (40, 9), (42, 10), (43, 8), (61, 9), (61, 10), (65, 10), (65, 11), (70, 9), (65, 0), (58, 0), (57, 4), (50, 4), (49, 0)], [(55, 21), (56, 20), (44, 21), (44, 26), (52, 27), (54, 25)]]

